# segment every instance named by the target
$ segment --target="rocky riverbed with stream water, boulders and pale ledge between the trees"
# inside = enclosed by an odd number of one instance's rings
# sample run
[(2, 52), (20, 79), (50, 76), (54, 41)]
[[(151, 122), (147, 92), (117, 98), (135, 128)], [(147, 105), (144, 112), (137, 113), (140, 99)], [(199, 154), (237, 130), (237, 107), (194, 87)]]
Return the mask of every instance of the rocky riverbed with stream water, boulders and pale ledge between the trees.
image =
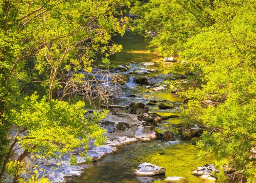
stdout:
[[(118, 65), (94, 68), (90, 74), (80, 71), (103, 81), (109, 81), (116, 75), (123, 76), (125, 80), (118, 83), (119, 91), (110, 92), (111, 103), (101, 106), (110, 109), (98, 123), (106, 129), (108, 140), (101, 146), (95, 146), (94, 141), (89, 142), (87, 155), (94, 163), (87, 164), (89, 159), (79, 155), (79, 152), (84, 151), (83, 147), (59, 159), (42, 159), (30, 155), (25, 158), (29, 163), (22, 175), (24, 178), (28, 178), (29, 173), (38, 171), (40, 176), (44, 175), (54, 183), (162, 183), (178, 179), (177, 177), (183, 177), (190, 183), (203, 182), (203, 179), (191, 172), (196, 167), (214, 162), (214, 157), (198, 161), (196, 156), (197, 148), (194, 144), (200, 139), (203, 130), (207, 129), (194, 124), (180, 124), (180, 106), (184, 99), (179, 97), (178, 88), (170, 88), (164, 83), (166, 80), (186, 82), (188, 75), (172, 72), (176, 62), (159, 62), (158, 55), (149, 56), (146, 50), (138, 51), (146, 46), (142, 43), (143, 38), (134, 39), (129, 35), (122, 39), (123, 42), (120, 43), (124, 45), (123, 51), (116, 58), (111, 58)], [(127, 41), (129, 46), (136, 48), (127, 48)], [(107, 72), (104, 72), (106, 68)], [(108, 77), (104, 77), (106, 74)], [(103, 84), (112, 89), (115, 85), (112, 82)], [(90, 92), (95, 103), (99, 104), (98, 92)], [(84, 100), (83, 94), (80, 95), (75, 99)], [(87, 112), (93, 112), (89, 103), (87, 108)], [(12, 131), (14, 133), (15, 129)], [(21, 154), (22, 149), (19, 146), (17, 149), (15, 153)], [(77, 166), (69, 165), (71, 155), (77, 158)], [(135, 176), (135, 170), (144, 162), (165, 168), (165, 174), (153, 177)], [(168, 179), (167, 176), (172, 178)], [(6, 177), (6, 181), (8, 180)]]

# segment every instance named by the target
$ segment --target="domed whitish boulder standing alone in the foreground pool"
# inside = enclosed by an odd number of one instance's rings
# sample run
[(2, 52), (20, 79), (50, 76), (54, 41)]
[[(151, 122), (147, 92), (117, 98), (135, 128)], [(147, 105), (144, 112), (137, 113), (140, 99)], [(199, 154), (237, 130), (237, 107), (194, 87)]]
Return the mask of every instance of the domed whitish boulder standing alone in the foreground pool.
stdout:
[(154, 176), (165, 174), (165, 168), (153, 165), (151, 163), (141, 163), (134, 175), (138, 176)]

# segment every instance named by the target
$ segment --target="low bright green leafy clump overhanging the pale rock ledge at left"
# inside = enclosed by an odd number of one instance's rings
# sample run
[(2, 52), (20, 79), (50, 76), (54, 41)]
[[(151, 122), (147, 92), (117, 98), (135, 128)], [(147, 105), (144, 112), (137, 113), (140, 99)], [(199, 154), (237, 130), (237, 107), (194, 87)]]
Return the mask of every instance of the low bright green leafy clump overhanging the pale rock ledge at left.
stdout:
[[(95, 120), (84, 117), (84, 102), (73, 105), (67, 102), (44, 97), (39, 102), (33, 94), (25, 98), (20, 112), (12, 111), (11, 120), (16, 126), (24, 127), (28, 135), (20, 137), (21, 146), (29, 152), (36, 152), (44, 157), (55, 157), (88, 144), (95, 138), (95, 144), (105, 141), (103, 130)], [(104, 113), (95, 113), (96, 120), (104, 118)]]

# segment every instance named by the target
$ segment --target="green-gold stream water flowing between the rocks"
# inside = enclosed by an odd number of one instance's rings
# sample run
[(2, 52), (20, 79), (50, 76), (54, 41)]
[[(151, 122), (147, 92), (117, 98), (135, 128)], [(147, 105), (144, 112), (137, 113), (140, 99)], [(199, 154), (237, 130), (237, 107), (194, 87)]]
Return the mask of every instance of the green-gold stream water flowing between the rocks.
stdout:
[[(132, 35), (127, 32), (123, 37), (114, 37), (113, 39), (118, 44), (123, 45), (123, 50), (117, 55), (111, 56), (111, 62), (117, 65), (128, 64), (132, 68), (137, 68), (143, 61), (156, 61), (161, 58), (156, 53), (148, 54), (145, 48), (147, 44), (144, 38), (138, 35)], [(141, 67), (141, 66), (140, 66)], [(156, 67), (150, 67), (159, 70), (154, 75), (160, 73), (168, 73), (175, 67), (174, 63), (161, 63)], [(123, 86), (124, 91), (121, 97), (113, 99), (114, 104), (126, 105), (132, 101), (147, 103), (149, 100), (169, 100), (171, 102), (182, 102), (182, 98), (171, 92), (160, 91), (152, 92), (143, 86), (133, 83), (133, 77)], [(129, 97), (129, 94), (134, 94), (135, 97)], [(81, 98), (77, 98), (81, 99)], [(96, 104), (99, 101), (96, 100)], [(89, 105), (88, 108), (91, 108)], [(171, 114), (179, 114), (180, 109), (160, 110), (157, 107), (150, 107), (152, 112), (157, 112), (160, 115), (167, 116)], [(159, 124), (157, 131), (171, 130), (175, 133), (174, 124), (179, 124), (179, 118), (171, 118)], [(178, 137), (176, 136), (176, 139)], [(193, 138), (191, 141), (153, 141), (153, 142), (138, 142), (120, 149), (114, 155), (108, 155), (101, 160), (85, 167), (85, 174), (81, 177), (71, 179), (71, 183), (162, 183), (167, 176), (182, 176), (188, 179), (188, 183), (203, 183), (199, 178), (190, 174), (191, 170), (205, 165), (214, 163), (215, 157), (197, 159), (197, 147), (193, 142), (199, 138)], [(139, 177), (133, 173), (142, 162), (153, 163), (157, 166), (166, 168), (166, 175), (154, 177)], [(225, 182), (225, 181), (218, 181)], [(232, 183), (239, 181), (232, 181)]]

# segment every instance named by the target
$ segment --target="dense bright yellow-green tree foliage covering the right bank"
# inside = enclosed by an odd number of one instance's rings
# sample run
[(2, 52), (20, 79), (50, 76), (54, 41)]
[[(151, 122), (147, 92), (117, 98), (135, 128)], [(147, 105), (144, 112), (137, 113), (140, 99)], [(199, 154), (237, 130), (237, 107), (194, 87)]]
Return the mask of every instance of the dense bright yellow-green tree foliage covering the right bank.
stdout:
[[(185, 60), (191, 71), (185, 113), (215, 132), (198, 143), (202, 156), (218, 154), (219, 177), (231, 164), (254, 183), (256, 146), (255, 1), (157, 0), (137, 4), (137, 31), (157, 32), (150, 46), (164, 56)], [(185, 88), (185, 84), (182, 84)], [(216, 105), (202, 105), (203, 100)]]

